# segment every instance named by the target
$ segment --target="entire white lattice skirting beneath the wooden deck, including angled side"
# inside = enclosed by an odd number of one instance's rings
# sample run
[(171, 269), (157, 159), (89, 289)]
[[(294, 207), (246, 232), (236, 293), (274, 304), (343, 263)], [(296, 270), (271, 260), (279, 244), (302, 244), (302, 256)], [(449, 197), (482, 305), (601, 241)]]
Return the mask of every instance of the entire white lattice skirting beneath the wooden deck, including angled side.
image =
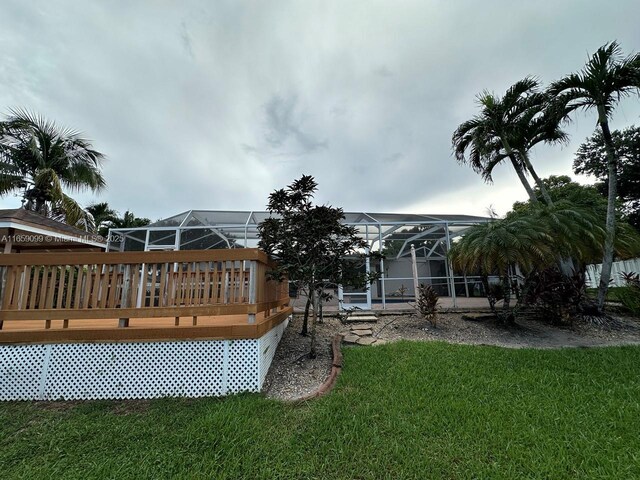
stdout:
[(257, 340), (2, 345), (0, 400), (258, 392), (288, 323)]

